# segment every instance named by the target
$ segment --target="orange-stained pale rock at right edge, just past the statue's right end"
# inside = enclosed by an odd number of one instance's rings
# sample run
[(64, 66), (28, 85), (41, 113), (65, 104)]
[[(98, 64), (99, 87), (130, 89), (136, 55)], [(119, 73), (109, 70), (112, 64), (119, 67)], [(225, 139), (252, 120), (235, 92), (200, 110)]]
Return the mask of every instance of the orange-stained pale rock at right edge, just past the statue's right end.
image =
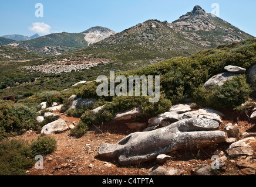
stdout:
[(249, 137), (230, 145), (227, 153), (230, 156), (253, 155), (256, 150), (256, 138)]

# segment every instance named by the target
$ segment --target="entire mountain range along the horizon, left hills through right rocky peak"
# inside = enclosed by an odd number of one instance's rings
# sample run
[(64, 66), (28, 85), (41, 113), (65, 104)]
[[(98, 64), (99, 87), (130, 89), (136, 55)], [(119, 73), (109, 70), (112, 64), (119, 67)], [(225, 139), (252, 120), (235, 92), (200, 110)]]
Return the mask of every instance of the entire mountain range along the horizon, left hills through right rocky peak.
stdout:
[[(96, 26), (81, 33), (52, 33), (31, 40), (0, 38), (0, 45), (22, 47), (58, 58), (90, 56), (144, 65), (177, 56), (190, 56), (220, 44), (254, 38), (223, 19), (206, 13), (200, 6), (172, 23), (147, 20), (120, 33)], [(14, 38), (14, 37), (13, 37)], [(139, 64), (137, 64), (139, 63)]]

